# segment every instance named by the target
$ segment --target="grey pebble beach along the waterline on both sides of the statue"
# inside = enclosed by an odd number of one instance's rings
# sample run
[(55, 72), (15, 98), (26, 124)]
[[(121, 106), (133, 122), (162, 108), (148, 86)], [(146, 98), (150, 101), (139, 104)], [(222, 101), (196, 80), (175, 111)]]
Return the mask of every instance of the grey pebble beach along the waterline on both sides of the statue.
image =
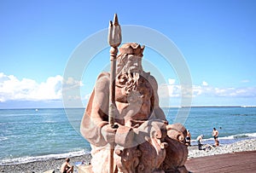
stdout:
[[(197, 146), (191, 146), (189, 148), (188, 159), (212, 156), (223, 153), (236, 153), (246, 151), (256, 151), (256, 139), (237, 141), (236, 143), (220, 145), (219, 147), (212, 147), (207, 144), (203, 145), (203, 150), (198, 150)], [(84, 164), (90, 163), (90, 154), (84, 154), (82, 156), (71, 158), (70, 164), (75, 165), (78, 162), (84, 161)], [(26, 163), (26, 164), (11, 164), (1, 165), (0, 172), (8, 173), (41, 173), (47, 170), (55, 170), (60, 172), (61, 164), (64, 159), (48, 159), (44, 161)], [(74, 166), (74, 172), (78, 172), (78, 167)]]

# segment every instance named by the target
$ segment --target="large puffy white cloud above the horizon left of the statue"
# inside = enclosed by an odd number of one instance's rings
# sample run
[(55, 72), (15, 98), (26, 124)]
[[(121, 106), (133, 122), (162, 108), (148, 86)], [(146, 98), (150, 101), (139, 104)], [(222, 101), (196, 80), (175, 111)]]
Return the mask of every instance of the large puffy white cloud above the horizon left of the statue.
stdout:
[[(0, 73), (0, 101), (49, 101), (61, 100), (62, 80), (60, 75), (49, 77), (43, 83), (22, 78), (19, 80), (14, 75)], [(81, 82), (69, 78), (66, 89), (80, 86)], [(64, 86), (63, 85), (63, 86)]]

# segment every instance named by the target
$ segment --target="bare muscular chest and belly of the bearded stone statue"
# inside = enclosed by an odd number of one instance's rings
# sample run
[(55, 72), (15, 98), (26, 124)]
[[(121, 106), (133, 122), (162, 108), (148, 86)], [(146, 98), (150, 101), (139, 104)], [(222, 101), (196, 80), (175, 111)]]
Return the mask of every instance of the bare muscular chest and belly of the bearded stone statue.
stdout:
[(119, 124), (136, 127), (148, 119), (153, 95), (148, 79), (139, 76), (135, 82), (129, 81), (126, 74), (121, 75), (115, 89), (115, 103), (119, 111), (119, 118), (116, 120)]

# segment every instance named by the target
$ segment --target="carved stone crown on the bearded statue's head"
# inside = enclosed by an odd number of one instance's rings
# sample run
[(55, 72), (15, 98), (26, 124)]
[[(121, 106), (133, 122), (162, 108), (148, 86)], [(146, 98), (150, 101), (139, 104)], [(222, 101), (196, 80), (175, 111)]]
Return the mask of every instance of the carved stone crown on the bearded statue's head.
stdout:
[(124, 43), (120, 48), (121, 54), (139, 55), (143, 56), (143, 50), (145, 46), (141, 46), (139, 43)]

